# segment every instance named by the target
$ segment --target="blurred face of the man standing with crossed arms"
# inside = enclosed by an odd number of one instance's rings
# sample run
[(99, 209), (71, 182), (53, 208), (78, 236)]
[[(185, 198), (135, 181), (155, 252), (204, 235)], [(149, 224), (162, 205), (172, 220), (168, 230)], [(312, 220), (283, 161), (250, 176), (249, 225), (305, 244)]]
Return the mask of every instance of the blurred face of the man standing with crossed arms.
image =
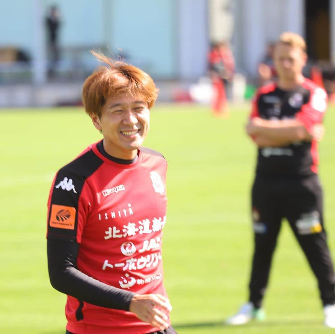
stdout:
[(289, 80), (302, 74), (307, 55), (297, 46), (279, 43), (274, 49), (273, 59), (279, 78)]

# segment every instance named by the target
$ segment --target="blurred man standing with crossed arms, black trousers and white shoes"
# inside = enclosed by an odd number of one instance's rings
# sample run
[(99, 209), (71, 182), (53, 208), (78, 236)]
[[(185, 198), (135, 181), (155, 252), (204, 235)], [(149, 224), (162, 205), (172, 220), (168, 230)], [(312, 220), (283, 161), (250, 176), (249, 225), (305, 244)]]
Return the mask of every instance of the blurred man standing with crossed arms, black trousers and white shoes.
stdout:
[(262, 300), (272, 255), (281, 220), (287, 218), (317, 278), (325, 325), (335, 328), (335, 277), (317, 175), (318, 141), (324, 133), (327, 95), (302, 75), (306, 60), (302, 37), (283, 33), (274, 50), (278, 81), (260, 88), (253, 102), (246, 127), (258, 147), (252, 188), (255, 248), (250, 294), (248, 303), (227, 320), (228, 324), (264, 319)]

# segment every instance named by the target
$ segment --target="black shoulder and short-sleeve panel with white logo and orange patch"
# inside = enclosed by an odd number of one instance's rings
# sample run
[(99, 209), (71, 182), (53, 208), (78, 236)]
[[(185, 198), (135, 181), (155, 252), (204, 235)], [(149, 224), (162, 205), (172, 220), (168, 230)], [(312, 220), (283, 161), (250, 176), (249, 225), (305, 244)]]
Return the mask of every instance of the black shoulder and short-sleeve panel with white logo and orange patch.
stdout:
[(48, 238), (76, 242), (79, 197), (85, 180), (102, 163), (90, 150), (59, 170), (52, 189)]

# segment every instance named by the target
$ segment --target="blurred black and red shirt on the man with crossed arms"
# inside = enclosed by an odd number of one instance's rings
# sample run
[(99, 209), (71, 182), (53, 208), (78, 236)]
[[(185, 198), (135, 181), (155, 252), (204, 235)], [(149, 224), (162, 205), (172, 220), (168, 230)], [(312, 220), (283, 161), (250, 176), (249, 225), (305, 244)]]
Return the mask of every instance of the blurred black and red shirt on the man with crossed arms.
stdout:
[[(297, 88), (280, 89), (275, 83), (260, 88), (254, 98), (251, 118), (284, 120), (295, 118), (308, 131), (321, 123), (327, 109), (326, 91), (306, 79)], [(318, 143), (299, 141), (282, 147), (258, 149), (257, 176), (306, 177), (318, 172)]]

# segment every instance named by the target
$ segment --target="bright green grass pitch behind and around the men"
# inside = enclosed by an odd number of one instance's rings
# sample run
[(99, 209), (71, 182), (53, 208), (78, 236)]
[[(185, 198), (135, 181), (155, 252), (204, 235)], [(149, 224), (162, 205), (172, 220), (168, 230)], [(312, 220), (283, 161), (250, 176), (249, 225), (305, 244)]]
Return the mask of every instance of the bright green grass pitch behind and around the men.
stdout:
[[(249, 192), (256, 149), (249, 106), (227, 120), (203, 107), (157, 106), (145, 142), (169, 162), (164, 282), (179, 333), (326, 333), (316, 281), (284, 223), (265, 298), (267, 320), (223, 325), (247, 298), (252, 253)], [(335, 253), (335, 109), (325, 119), (320, 176)], [(46, 208), (55, 172), (100, 139), (83, 110), (0, 112), (0, 333), (65, 333), (65, 295), (49, 283)]]

